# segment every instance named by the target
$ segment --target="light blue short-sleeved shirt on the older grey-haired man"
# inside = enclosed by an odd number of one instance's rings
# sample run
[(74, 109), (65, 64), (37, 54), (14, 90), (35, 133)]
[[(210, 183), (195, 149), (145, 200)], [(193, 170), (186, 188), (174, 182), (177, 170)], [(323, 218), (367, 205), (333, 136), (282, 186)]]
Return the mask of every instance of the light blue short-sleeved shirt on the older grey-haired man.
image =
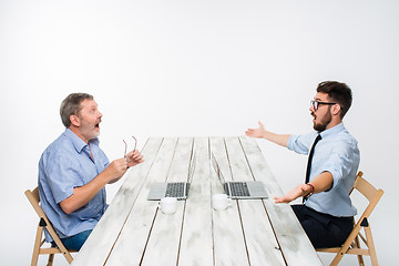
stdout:
[[(39, 162), (41, 207), (61, 238), (93, 229), (106, 208), (104, 187), (85, 206), (71, 214), (65, 214), (60, 206), (60, 202), (73, 194), (74, 187), (88, 184), (109, 165), (99, 140), (91, 140), (89, 145), (66, 129), (45, 149)], [(48, 232), (45, 239), (52, 241)]]

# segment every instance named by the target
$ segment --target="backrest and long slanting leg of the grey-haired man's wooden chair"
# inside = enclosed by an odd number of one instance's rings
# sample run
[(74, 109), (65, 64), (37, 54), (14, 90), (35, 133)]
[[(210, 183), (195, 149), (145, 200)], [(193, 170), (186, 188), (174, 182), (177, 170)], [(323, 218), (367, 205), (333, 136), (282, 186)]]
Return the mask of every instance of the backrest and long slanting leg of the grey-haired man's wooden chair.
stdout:
[(54, 228), (52, 227), (50, 221), (48, 219), (45, 213), (43, 212), (43, 209), (40, 207), (39, 203), (40, 203), (40, 196), (39, 196), (39, 188), (35, 187), (32, 191), (27, 190), (24, 192), (24, 194), (27, 195), (29, 202), (31, 203), (31, 205), (33, 206), (34, 211), (37, 212), (39, 218), (40, 218), (40, 226), (44, 227), (50, 236), (53, 238), (53, 241), (55, 242), (58, 248), (61, 250), (61, 253), (64, 254), (64, 256), (66, 255), (70, 258), (69, 262), (72, 262), (72, 257), (70, 255), (70, 252), (65, 248), (65, 246), (62, 244), (60, 237), (58, 236), (57, 232), (54, 231)]

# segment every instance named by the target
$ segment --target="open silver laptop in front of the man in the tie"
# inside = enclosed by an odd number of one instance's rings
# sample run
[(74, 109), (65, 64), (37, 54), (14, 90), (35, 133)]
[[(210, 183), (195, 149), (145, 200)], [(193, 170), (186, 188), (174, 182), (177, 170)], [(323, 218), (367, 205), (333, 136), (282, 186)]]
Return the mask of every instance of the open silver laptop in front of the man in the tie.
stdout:
[(264, 183), (260, 181), (226, 182), (213, 153), (212, 164), (216, 171), (217, 177), (222, 183), (225, 193), (229, 198), (258, 200), (268, 197), (264, 187)]

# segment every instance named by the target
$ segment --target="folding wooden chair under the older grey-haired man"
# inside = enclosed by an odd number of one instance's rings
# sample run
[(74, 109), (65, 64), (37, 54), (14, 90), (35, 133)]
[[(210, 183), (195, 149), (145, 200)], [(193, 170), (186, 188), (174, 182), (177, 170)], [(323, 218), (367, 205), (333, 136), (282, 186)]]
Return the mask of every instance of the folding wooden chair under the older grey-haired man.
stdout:
[[(34, 241), (34, 247), (33, 247), (33, 256), (32, 256), (32, 263), (31, 265), (38, 265), (38, 259), (39, 259), (39, 255), (42, 254), (49, 254), (49, 262), (48, 262), (48, 266), (51, 266), (53, 264), (53, 259), (54, 259), (54, 254), (63, 254), (64, 257), (66, 258), (68, 263), (71, 264), (73, 260), (73, 257), (71, 255), (72, 252), (74, 250), (68, 250), (65, 248), (65, 246), (62, 244), (60, 237), (57, 235), (54, 228), (52, 227), (50, 221), (48, 219), (48, 217), (45, 216), (43, 209), (40, 207), (39, 203), (40, 203), (40, 197), (39, 197), (39, 190), (38, 187), (33, 190), (33, 192), (31, 192), (30, 190), (25, 191), (24, 193), (29, 200), (29, 202), (32, 204), (34, 211), (37, 212), (37, 214), (39, 215), (39, 225), (38, 225), (38, 231), (37, 231), (37, 236), (35, 236), (35, 241)], [(53, 241), (57, 244), (57, 247), (42, 247), (42, 245), (44, 244), (44, 239), (43, 239), (43, 231), (44, 228), (50, 233), (51, 237), (53, 238)]]

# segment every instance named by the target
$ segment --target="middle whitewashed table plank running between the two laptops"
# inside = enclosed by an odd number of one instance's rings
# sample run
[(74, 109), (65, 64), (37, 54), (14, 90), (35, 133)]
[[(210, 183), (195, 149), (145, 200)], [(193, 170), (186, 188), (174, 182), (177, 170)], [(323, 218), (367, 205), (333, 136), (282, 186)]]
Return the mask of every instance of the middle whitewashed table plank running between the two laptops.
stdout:
[(186, 201), (178, 265), (213, 265), (209, 149), (207, 137), (194, 139), (196, 166)]

